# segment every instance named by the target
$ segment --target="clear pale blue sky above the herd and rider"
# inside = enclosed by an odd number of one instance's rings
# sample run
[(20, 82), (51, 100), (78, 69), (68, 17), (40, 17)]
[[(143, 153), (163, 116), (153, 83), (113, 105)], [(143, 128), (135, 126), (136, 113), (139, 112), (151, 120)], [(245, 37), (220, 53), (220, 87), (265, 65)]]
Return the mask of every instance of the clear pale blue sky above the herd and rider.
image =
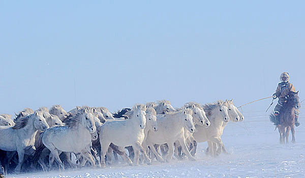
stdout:
[[(1, 1), (0, 113), (304, 99), (304, 1)], [(76, 91), (76, 92), (75, 92)], [(270, 100), (246, 106), (264, 110)]]

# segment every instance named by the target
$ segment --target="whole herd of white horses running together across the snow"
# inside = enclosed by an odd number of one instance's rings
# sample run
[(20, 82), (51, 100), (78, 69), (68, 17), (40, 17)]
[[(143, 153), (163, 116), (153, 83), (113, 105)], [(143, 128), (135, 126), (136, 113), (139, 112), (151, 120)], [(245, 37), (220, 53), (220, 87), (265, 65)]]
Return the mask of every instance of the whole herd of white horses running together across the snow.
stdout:
[(2, 171), (18, 173), (105, 167), (119, 160), (151, 164), (173, 156), (195, 160), (197, 143), (205, 141), (207, 154), (217, 156), (227, 153), (221, 135), (229, 121), (243, 121), (232, 100), (188, 102), (177, 109), (162, 100), (113, 114), (105, 107), (25, 108), (13, 120), (0, 116), (0, 163)]

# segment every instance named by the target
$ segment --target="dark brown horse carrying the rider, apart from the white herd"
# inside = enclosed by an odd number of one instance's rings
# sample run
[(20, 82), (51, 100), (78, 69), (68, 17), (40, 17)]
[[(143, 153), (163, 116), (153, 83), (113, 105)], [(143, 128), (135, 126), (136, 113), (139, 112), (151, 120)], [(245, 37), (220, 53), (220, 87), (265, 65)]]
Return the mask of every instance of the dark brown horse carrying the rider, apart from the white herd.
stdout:
[[(299, 102), (298, 92), (290, 92), (288, 96), (287, 103), (281, 108), (279, 114), (280, 125), (276, 126), (276, 129), (279, 129), (280, 133), (280, 143), (288, 143), (289, 131), (291, 129), (292, 134), (292, 143), (295, 143), (295, 130), (294, 130), (294, 111), (299, 109), (301, 104)], [(275, 121), (276, 116), (272, 113), (270, 114), (270, 121)]]

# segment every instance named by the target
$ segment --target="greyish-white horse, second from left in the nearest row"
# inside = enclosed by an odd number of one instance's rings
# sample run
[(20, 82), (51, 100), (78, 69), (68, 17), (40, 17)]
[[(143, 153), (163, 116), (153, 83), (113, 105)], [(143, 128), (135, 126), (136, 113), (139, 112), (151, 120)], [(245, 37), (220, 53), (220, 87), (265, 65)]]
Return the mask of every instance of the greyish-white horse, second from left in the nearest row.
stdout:
[(91, 133), (96, 132), (94, 116), (85, 109), (81, 109), (76, 115), (66, 118), (65, 124), (67, 126), (52, 127), (46, 130), (42, 136), (43, 144), (51, 151), (49, 169), (54, 158), (64, 168), (63, 162), (59, 158), (61, 152), (80, 153), (95, 166), (94, 159), (88, 153), (92, 145)]

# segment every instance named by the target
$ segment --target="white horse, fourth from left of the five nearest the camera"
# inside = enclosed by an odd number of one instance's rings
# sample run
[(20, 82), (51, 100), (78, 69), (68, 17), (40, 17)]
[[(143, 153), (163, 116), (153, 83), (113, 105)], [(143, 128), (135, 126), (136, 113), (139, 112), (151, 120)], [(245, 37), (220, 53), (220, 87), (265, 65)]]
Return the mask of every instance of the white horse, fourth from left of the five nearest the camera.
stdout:
[(195, 160), (190, 154), (185, 141), (185, 130), (191, 133), (195, 131), (192, 114), (191, 109), (185, 108), (175, 112), (168, 112), (164, 115), (157, 115), (158, 131), (149, 131), (145, 141), (159, 161), (162, 162), (163, 158), (156, 151), (154, 144), (168, 144), (169, 151), (166, 155), (166, 160), (170, 161), (174, 153), (174, 142), (176, 140), (180, 142), (182, 150), (187, 154), (188, 158)]

